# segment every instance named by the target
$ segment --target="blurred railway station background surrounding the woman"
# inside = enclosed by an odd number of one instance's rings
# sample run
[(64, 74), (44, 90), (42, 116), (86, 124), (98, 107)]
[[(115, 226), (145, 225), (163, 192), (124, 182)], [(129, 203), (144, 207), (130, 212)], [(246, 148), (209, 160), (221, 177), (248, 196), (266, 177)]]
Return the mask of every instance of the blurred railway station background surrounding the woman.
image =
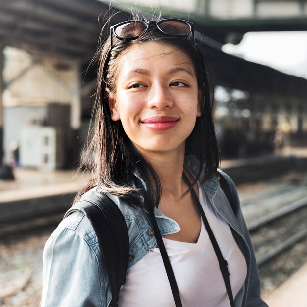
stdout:
[(0, 0), (0, 306), (39, 306), (43, 245), (87, 176), (91, 60), (103, 21), (131, 7), (202, 33), (221, 168), (263, 296), (290, 306), (273, 294), (307, 263), (307, 0)]

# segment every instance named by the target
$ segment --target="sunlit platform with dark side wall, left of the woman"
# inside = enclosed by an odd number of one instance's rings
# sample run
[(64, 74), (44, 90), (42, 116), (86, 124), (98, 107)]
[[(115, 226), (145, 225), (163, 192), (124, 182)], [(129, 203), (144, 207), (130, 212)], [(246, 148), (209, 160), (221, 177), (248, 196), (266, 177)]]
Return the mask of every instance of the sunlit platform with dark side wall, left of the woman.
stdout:
[(14, 180), (0, 181), (0, 225), (4, 225), (0, 237), (19, 231), (16, 227), (17, 230), (9, 226), (5, 228), (6, 223), (13, 220), (23, 221), (36, 217), (36, 224), (58, 224), (87, 177), (76, 170), (15, 168), (13, 173)]

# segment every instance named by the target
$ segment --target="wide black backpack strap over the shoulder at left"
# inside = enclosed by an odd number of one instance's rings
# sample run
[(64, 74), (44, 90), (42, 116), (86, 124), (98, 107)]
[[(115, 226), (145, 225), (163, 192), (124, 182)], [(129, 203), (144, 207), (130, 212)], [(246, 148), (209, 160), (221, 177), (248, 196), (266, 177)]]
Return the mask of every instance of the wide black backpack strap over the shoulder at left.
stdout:
[(110, 306), (116, 307), (120, 288), (126, 283), (129, 260), (129, 236), (125, 218), (107, 195), (93, 190), (83, 194), (64, 218), (77, 210), (87, 216), (97, 235), (112, 292)]

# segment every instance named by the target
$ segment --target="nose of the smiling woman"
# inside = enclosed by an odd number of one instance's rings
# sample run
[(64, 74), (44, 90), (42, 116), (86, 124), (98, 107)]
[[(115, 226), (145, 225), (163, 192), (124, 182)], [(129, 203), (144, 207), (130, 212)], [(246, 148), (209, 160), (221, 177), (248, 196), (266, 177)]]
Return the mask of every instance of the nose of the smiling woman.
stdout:
[(147, 106), (149, 108), (157, 108), (158, 110), (171, 108), (173, 106), (173, 99), (168, 86), (163, 86), (162, 84), (153, 85), (149, 92)]

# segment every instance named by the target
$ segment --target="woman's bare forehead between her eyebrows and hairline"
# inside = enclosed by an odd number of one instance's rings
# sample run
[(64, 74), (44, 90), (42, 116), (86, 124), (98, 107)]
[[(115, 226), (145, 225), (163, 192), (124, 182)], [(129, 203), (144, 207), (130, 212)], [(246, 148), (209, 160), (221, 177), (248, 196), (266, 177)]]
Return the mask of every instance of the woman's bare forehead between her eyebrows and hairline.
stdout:
[(182, 65), (195, 75), (193, 64), (189, 56), (175, 46), (159, 42), (142, 42), (133, 44), (120, 57), (120, 74), (138, 67), (157, 68), (155, 64), (163, 64), (163, 68), (173, 68)]

